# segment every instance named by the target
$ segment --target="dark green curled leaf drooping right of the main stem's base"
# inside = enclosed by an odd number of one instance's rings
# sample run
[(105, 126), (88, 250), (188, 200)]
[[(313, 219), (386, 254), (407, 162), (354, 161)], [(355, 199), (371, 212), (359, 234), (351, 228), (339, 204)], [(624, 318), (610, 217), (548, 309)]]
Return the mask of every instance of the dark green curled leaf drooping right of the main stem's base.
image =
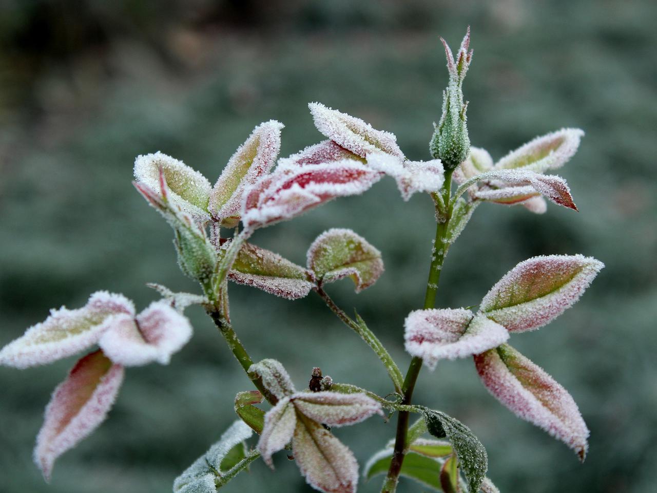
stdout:
[(479, 491), (488, 469), (488, 456), (482, 442), (461, 421), (441, 411), (430, 410), (423, 406), (417, 408), (424, 415), (429, 433), (436, 438), (446, 436), (451, 442), (468, 480), (468, 491)]

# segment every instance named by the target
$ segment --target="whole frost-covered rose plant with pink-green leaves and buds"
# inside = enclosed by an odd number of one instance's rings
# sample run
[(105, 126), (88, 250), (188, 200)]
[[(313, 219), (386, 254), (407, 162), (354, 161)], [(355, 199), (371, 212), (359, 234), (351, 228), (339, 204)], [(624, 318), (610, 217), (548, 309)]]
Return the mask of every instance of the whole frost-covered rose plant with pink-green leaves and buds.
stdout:
[[(238, 392), (237, 421), (175, 480), (175, 493), (214, 493), (252, 461), (261, 458), (273, 469), (281, 450), (313, 488), (355, 492), (357, 459), (332, 428), (377, 415), (385, 423), (396, 417), (397, 423), (390, 433), (394, 438), (363, 468), (366, 480), (386, 475), (382, 492), (394, 492), (399, 477), (445, 493), (498, 492), (486, 476), (486, 450), (472, 431), (440, 410), (411, 401), (423, 365), (434, 370), (440, 360), (455, 358), (472, 358), (482, 383), (499, 402), (585, 458), (589, 431), (574, 399), (508, 342), (570, 308), (602, 262), (581, 255), (530, 258), (504, 275), (476, 310), (436, 309), (445, 256), (479, 204), (520, 204), (543, 214), (547, 199), (578, 210), (566, 181), (549, 172), (574, 156), (583, 132), (561, 129), (537, 137), (494, 162), (484, 149), (471, 147), (468, 136), (463, 82), (472, 62), (470, 30), (456, 55), (443, 45), (449, 82), (430, 138), (430, 160), (410, 160), (392, 133), (321, 103), (309, 108), (325, 140), (279, 158), (283, 124), (264, 122), (238, 147), (214, 187), (165, 154), (137, 157), (135, 187), (171, 225), (180, 268), (198, 281), (200, 291), (173, 293), (149, 284), (161, 299), (139, 313), (122, 294), (99, 291), (82, 308), (53, 310), (0, 350), (0, 364), (16, 368), (91, 351), (74, 364), (46, 408), (34, 459), (47, 481), (55, 460), (106, 418), (124, 367), (166, 365), (183, 348), (192, 335), (184, 315), (191, 305), (206, 310), (255, 388)], [(251, 241), (260, 228), (328, 200), (364, 193), (384, 176), (396, 181), (403, 200), (428, 194), (436, 218), (424, 302), (408, 314), (403, 330), (399, 327), (412, 357), (405, 374), (367, 323), (358, 314), (349, 316), (325, 291), (344, 278), (353, 281), (357, 293), (376, 283), (384, 273), (378, 248), (350, 229), (332, 228), (313, 241), (306, 266), (299, 266)], [(452, 181), (459, 185), (454, 193)], [(254, 363), (231, 323), (229, 281), (290, 300), (320, 296), (380, 359), (390, 394), (382, 397), (334, 382), (318, 367), (307, 388), (297, 390), (277, 360)], [(409, 425), (411, 414), (417, 419)]]

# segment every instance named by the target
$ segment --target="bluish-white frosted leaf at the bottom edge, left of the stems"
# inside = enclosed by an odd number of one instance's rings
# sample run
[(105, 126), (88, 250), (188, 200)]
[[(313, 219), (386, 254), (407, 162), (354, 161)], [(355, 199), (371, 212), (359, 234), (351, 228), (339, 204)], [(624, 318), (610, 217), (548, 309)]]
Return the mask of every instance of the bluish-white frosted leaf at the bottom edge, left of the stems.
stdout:
[[(223, 460), (252, 435), (251, 429), (242, 421), (235, 421), (208, 452), (196, 459), (179, 477), (173, 481), (174, 493), (215, 493), (217, 490), (216, 472), (223, 472)], [(227, 464), (225, 464), (227, 465)], [(216, 472), (215, 472), (216, 471)]]

